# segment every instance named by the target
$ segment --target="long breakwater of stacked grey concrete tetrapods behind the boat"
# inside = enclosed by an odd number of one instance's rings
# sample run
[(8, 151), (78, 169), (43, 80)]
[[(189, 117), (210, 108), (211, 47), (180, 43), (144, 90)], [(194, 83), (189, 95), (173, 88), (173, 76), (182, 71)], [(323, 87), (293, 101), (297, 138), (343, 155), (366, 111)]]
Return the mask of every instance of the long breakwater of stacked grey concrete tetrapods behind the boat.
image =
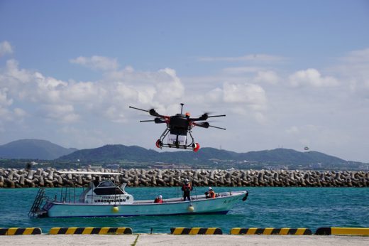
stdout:
[[(82, 187), (106, 178), (127, 186), (181, 186), (188, 178), (194, 186), (278, 186), (278, 187), (368, 187), (368, 171), (299, 170), (206, 170), (206, 169), (123, 169), (121, 176), (65, 174), (56, 169), (0, 169), (0, 188)], [(87, 170), (79, 170), (87, 171)], [(91, 170), (89, 170), (91, 171)], [(117, 172), (111, 169), (95, 171)]]

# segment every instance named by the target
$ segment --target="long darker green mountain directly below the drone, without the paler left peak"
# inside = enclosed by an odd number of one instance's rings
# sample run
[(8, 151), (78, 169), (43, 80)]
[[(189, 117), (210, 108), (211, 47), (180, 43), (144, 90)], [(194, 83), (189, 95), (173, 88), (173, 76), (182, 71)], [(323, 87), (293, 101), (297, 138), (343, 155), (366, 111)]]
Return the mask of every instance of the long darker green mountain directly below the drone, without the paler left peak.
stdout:
[(272, 149), (236, 153), (214, 148), (202, 148), (197, 153), (194, 151), (158, 152), (139, 146), (124, 146), (120, 144), (106, 145), (97, 149), (82, 149), (72, 154), (61, 156), (56, 161), (76, 161), (77, 159), (83, 163), (139, 162), (155, 164), (160, 162), (166, 164), (188, 164), (190, 166), (199, 166), (199, 164), (215, 166), (216, 164), (219, 167), (234, 166), (238, 168), (241, 168), (241, 166), (258, 166), (258, 164), (263, 164), (264, 166), (309, 166), (311, 164), (349, 166), (351, 163), (350, 161), (318, 151), (300, 152), (293, 149)]

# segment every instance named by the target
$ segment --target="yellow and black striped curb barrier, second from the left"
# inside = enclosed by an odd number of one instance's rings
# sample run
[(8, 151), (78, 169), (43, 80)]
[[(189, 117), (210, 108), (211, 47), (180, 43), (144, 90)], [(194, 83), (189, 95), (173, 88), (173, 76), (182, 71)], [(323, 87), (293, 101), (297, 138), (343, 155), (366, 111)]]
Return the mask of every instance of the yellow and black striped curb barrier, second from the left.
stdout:
[(51, 228), (50, 235), (57, 234), (132, 234), (131, 228)]

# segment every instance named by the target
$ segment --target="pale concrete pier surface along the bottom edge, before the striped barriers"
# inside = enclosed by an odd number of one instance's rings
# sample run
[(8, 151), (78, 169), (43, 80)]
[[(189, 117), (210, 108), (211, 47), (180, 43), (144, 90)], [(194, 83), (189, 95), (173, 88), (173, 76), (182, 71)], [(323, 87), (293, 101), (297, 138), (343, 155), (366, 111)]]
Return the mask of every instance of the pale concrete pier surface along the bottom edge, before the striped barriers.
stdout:
[(369, 237), (317, 235), (17, 235), (1, 245), (369, 245)]

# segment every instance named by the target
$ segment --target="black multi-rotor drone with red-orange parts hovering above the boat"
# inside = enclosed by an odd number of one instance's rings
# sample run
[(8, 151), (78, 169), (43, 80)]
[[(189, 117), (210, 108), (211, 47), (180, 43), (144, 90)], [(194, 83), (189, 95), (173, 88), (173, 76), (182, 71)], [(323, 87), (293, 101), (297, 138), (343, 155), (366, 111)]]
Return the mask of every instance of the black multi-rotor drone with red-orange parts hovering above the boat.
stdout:
[[(213, 117), (225, 117), (226, 114), (219, 115), (209, 115), (209, 113), (204, 113), (202, 116), (197, 118), (191, 118), (189, 112), (183, 114), (183, 103), (181, 105), (181, 113), (175, 114), (172, 116), (166, 116), (162, 114), (158, 114), (155, 109), (139, 109), (137, 107), (131, 107), (131, 109), (141, 110), (143, 112), (148, 112), (151, 116), (155, 117), (155, 119), (141, 120), (140, 122), (155, 122), (155, 124), (167, 124), (167, 128), (164, 130), (163, 134), (161, 134), (160, 138), (156, 141), (155, 145), (159, 149), (163, 149), (163, 147), (167, 148), (177, 148), (177, 149), (192, 149), (197, 152), (200, 149), (200, 144), (194, 142), (194, 137), (192, 137), (192, 128), (193, 127), (202, 127), (209, 128), (213, 127), (216, 129), (225, 130), (222, 127), (214, 127), (206, 122), (206, 119)], [(191, 137), (191, 142), (187, 139), (187, 134)], [(167, 137), (167, 143), (165, 144), (165, 137)]]

